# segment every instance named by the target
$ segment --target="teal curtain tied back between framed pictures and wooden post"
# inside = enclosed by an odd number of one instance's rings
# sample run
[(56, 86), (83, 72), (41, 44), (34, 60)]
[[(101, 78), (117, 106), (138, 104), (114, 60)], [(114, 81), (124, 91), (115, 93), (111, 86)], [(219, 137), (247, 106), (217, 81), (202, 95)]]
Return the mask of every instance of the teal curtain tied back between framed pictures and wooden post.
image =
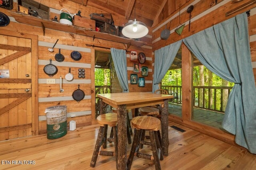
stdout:
[(178, 53), (181, 43), (182, 40), (162, 47), (161, 49), (155, 51), (152, 93), (159, 89), (158, 84), (162, 81), (166, 72), (174, 61), (174, 58)]

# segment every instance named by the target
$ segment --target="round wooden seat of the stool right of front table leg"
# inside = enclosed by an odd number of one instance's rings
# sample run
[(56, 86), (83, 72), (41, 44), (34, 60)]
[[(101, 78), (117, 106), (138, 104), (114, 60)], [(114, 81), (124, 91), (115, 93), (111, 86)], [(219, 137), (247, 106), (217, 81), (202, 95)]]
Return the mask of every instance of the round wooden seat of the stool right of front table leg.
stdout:
[(132, 126), (136, 129), (158, 131), (161, 128), (161, 121), (152, 116), (136, 116), (132, 118)]

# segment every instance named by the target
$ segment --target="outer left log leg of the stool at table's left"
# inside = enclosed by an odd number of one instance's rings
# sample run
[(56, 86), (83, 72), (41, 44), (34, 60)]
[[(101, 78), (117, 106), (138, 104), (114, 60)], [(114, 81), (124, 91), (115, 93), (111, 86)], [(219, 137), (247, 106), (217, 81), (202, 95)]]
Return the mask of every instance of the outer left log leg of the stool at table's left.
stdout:
[(94, 151), (93, 151), (93, 154), (92, 154), (92, 160), (91, 160), (91, 163), (90, 163), (90, 167), (95, 167), (96, 160), (97, 160), (98, 154), (99, 154), (99, 150), (100, 150), (100, 147), (102, 145), (103, 131), (104, 131), (104, 127), (100, 126), (97, 141), (96, 141)]

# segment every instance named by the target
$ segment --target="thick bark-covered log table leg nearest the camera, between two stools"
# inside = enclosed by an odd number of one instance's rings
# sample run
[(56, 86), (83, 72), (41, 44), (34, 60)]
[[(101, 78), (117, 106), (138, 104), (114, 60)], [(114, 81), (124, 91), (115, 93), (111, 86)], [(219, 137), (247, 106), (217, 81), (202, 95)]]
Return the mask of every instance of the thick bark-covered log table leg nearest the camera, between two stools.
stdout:
[(127, 170), (127, 115), (126, 105), (117, 106), (117, 124), (118, 124), (118, 170)]

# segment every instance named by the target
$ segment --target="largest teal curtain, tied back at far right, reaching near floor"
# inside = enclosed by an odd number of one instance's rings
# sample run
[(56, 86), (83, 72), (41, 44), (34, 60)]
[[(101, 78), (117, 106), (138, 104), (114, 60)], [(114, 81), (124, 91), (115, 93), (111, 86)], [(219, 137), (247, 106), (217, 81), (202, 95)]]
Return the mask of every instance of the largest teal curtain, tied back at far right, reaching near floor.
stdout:
[(247, 14), (239, 14), (183, 39), (198, 60), (234, 82), (222, 127), (238, 145), (256, 154), (256, 88), (250, 56)]

